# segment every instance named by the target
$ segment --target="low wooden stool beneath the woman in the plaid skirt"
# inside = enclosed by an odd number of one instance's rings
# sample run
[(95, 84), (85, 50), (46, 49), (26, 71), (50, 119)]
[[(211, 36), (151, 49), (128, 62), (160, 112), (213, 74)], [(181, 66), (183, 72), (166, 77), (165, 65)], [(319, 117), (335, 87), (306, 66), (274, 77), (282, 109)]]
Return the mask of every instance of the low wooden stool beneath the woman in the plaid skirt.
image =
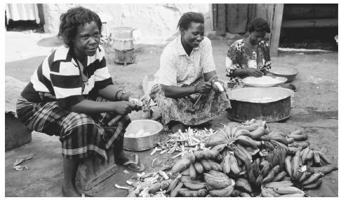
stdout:
[(76, 187), (80, 191), (88, 191), (103, 180), (117, 172), (114, 152), (107, 152), (107, 161), (103, 162), (100, 157), (88, 157), (78, 166), (76, 173)]

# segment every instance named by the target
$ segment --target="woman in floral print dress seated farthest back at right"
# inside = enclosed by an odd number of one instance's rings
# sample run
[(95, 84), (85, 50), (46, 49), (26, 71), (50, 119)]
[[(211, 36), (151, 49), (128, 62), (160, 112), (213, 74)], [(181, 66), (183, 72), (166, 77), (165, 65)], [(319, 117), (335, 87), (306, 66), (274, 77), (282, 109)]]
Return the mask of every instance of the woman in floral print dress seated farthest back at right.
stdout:
[[(226, 76), (229, 79), (229, 87), (243, 83), (242, 78), (248, 76), (261, 77), (273, 76), (269, 72), (271, 60), (269, 45), (265, 41), (267, 33), (270, 33), (269, 24), (262, 18), (255, 18), (248, 24), (248, 36), (235, 41), (227, 51)], [(294, 85), (282, 84), (296, 90)]]

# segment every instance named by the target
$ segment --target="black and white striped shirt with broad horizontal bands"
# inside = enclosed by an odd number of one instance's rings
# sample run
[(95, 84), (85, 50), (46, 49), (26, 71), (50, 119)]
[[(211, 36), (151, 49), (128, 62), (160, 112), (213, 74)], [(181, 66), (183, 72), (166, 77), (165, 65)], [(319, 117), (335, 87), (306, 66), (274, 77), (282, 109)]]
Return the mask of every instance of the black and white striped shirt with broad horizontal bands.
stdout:
[(58, 101), (65, 108), (112, 84), (105, 62), (105, 50), (101, 46), (95, 55), (88, 57), (84, 71), (87, 71), (88, 77), (86, 84), (82, 81), (81, 69), (72, 49), (61, 46), (34, 71), (21, 95), (32, 102)]

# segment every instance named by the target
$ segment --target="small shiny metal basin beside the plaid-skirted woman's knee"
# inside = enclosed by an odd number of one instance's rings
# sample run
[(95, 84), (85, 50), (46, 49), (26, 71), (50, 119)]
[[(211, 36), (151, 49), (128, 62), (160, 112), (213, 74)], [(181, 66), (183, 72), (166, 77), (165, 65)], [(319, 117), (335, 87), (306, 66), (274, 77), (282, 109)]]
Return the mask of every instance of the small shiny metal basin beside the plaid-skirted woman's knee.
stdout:
[[(134, 120), (132, 121), (124, 134), (123, 149), (142, 151), (154, 148), (160, 142), (160, 131), (162, 124), (154, 120)], [(142, 136), (136, 136), (136, 133), (143, 130)]]

